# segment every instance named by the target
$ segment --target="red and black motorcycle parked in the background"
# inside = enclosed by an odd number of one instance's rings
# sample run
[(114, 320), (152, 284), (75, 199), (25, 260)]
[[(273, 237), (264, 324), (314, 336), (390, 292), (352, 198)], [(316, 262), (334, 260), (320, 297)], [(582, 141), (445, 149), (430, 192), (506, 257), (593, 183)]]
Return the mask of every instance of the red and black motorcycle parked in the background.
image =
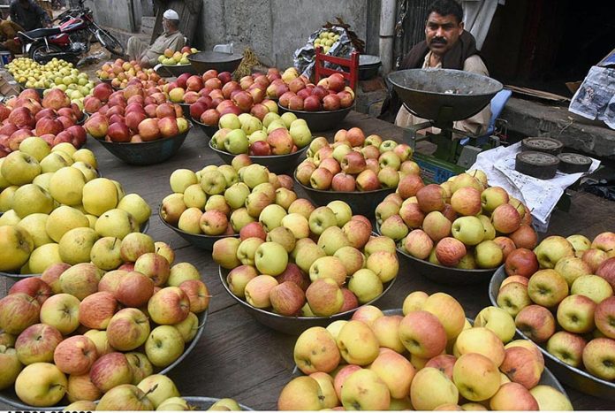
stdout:
[(93, 39), (111, 55), (123, 56), (124, 46), (113, 34), (96, 24), (92, 11), (83, 4), (84, 0), (80, 0), (77, 8), (60, 14), (54, 20), (59, 23), (56, 27), (18, 32), (15, 41), (22, 45), (24, 53), (40, 64), (53, 57), (77, 63), (79, 57), (90, 50)]

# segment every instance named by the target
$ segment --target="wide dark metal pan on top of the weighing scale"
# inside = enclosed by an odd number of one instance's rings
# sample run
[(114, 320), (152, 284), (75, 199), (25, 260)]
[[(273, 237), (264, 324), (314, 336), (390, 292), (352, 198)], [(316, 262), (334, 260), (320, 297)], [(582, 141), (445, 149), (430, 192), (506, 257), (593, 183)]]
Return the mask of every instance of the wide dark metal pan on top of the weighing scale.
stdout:
[(387, 79), (409, 111), (439, 122), (475, 115), (504, 88), (490, 77), (452, 69), (407, 69)]

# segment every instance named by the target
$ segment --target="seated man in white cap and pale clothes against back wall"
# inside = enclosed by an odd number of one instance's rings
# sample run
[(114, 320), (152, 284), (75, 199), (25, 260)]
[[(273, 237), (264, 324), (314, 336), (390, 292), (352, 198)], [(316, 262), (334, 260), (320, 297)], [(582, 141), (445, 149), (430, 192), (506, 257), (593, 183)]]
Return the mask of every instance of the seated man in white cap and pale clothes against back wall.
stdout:
[(177, 11), (167, 10), (163, 14), (164, 33), (148, 46), (137, 37), (128, 39), (126, 54), (131, 60), (137, 60), (142, 67), (153, 67), (158, 63), (158, 57), (164, 50), (179, 51), (184, 47), (184, 34), (179, 32), (179, 16)]

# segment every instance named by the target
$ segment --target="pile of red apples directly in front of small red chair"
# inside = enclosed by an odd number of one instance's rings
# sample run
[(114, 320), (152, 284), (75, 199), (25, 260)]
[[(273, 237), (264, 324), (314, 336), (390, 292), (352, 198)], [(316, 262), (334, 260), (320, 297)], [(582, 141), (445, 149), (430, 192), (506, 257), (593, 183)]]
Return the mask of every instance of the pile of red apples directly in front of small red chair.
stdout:
[(291, 111), (338, 111), (354, 103), (353, 88), (346, 86), (341, 73), (333, 73), (317, 85), (301, 75), (288, 83), (288, 89), (278, 103)]

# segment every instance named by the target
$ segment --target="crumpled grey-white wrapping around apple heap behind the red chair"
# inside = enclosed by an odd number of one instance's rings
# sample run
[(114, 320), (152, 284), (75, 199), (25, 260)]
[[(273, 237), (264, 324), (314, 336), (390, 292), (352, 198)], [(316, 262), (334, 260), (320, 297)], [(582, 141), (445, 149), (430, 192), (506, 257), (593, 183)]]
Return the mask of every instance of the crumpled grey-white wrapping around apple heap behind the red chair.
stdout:
[[(353, 43), (350, 41), (348, 34), (344, 27), (333, 26), (330, 28), (320, 28), (308, 37), (308, 43), (305, 46), (294, 51), (292, 60), (294, 67), (303, 75), (310, 78), (314, 70), (316, 50), (314, 47), (314, 41), (323, 32), (334, 32), (339, 34), (339, 39), (330, 46), (330, 50), (327, 53), (330, 56), (337, 57), (350, 57), (353, 52)], [(339, 69), (338, 65), (332, 65), (329, 62), (324, 63), (325, 67), (331, 69)]]

